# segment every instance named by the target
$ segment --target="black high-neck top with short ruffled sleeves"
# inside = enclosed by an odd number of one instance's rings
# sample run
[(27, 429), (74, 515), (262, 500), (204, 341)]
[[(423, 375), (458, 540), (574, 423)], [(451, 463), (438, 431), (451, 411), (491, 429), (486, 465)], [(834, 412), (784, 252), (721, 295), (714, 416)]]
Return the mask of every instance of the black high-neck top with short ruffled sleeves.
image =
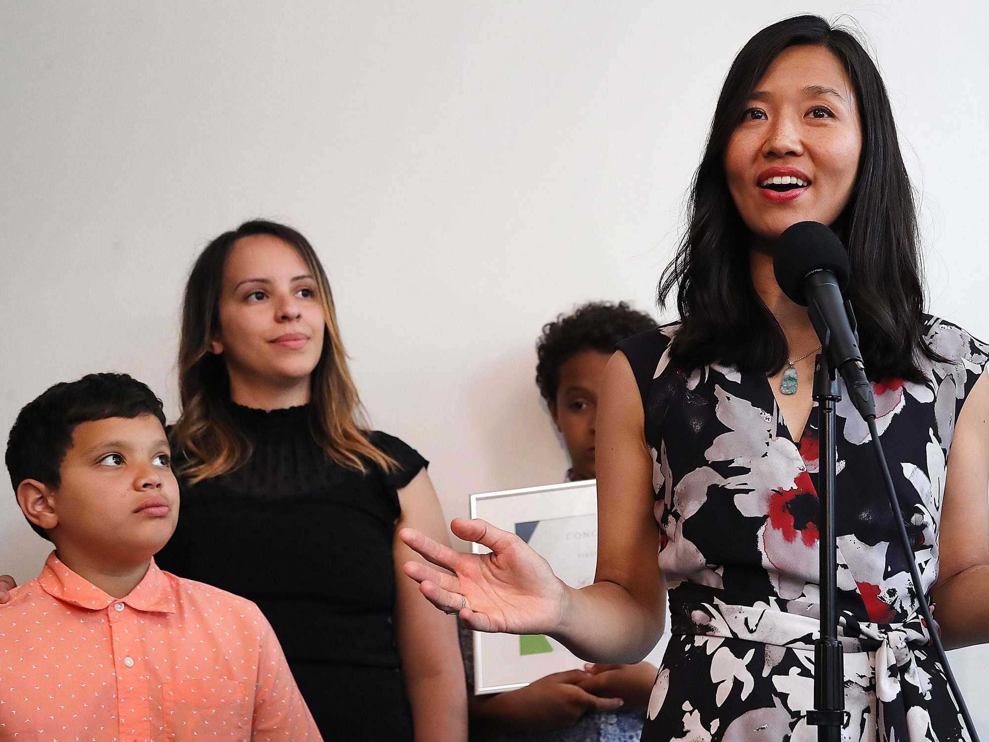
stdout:
[(315, 443), (308, 406), (229, 410), (253, 453), (236, 471), (183, 484), (156, 562), (260, 606), (326, 739), (411, 739), (392, 548), (398, 490), (426, 460), (374, 431), (399, 467), (362, 475)]

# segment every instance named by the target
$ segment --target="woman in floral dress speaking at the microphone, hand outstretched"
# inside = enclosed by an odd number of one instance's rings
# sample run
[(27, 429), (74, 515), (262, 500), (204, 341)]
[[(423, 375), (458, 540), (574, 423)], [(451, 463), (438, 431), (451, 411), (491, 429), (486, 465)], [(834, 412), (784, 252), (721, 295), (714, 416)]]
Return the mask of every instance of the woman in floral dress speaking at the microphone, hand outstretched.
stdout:
[(989, 639), (989, 346), (924, 313), (912, 191), (875, 64), (854, 36), (801, 16), (753, 37), (725, 79), (660, 282), (679, 321), (620, 343), (605, 372), (595, 583), (567, 587), (482, 520), (452, 529), (486, 555), (400, 534), (453, 573), (405, 564), (438, 608), (481, 631), (550, 634), (590, 661), (641, 660), (669, 592), (673, 638), (644, 740), (817, 737), (820, 341), (772, 263), (780, 233), (804, 221), (848, 249), (846, 297), (923, 588), (843, 385), (843, 739), (965, 736), (919, 602), (937, 604), (946, 646)]

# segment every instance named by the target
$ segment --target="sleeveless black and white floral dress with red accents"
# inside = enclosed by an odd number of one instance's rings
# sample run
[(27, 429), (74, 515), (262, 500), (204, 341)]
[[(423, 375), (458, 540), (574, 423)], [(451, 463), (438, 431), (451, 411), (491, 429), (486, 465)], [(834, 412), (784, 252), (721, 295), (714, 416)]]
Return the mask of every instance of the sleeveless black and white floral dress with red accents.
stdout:
[[(949, 362), (925, 359), (927, 383), (886, 380), (874, 389), (930, 600), (954, 421), (989, 345), (942, 320), (925, 323), (931, 346)], [(764, 374), (676, 368), (668, 352), (676, 327), (619, 344), (644, 404), (673, 620), (642, 739), (816, 740), (806, 721), (819, 628), (816, 412), (794, 441)], [(925, 638), (868, 429), (844, 387), (843, 395), (838, 601), (851, 714), (843, 739), (967, 739)]]

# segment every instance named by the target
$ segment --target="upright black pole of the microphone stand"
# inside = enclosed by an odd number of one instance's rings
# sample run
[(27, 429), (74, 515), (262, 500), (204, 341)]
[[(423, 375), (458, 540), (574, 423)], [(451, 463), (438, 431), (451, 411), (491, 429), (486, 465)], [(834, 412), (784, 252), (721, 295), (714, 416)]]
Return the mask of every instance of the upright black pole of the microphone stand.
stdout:
[(819, 354), (814, 363), (820, 463), (818, 474), (818, 545), (821, 552), (821, 636), (814, 642), (814, 709), (807, 723), (817, 726), (818, 742), (840, 742), (845, 711), (845, 668), (838, 641), (838, 547), (835, 533), (835, 475), (838, 441), (835, 409), (842, 399), (838, 374)]

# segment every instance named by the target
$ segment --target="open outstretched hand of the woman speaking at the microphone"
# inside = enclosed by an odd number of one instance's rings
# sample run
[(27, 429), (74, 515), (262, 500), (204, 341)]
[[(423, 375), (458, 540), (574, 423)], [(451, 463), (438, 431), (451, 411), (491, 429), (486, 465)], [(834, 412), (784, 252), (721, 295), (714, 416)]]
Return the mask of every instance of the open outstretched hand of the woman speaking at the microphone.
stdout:
[(399, 537), (427, 561), (405, 562), (405, 574), (419, 583), (430, 603), (478, 631), (511, 634), (553, 633), (565, 612), (567, 587), (549, 563), (513, 533), (485, 520), (454, 518), (453, 534), (476, 541), (490, 554), (464, 554), (412, 528)]

